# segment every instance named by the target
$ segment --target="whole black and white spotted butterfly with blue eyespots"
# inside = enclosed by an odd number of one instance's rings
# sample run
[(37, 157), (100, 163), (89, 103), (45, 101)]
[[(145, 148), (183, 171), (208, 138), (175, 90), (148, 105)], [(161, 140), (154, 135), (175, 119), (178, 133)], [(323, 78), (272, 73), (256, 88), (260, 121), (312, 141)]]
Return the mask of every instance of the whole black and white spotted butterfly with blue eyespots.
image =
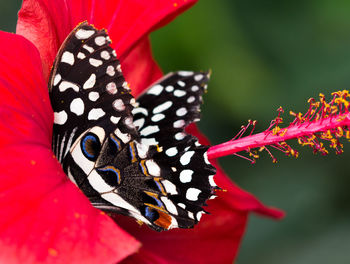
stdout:
[(171, 73), (136, 101), (110, 42), (84, 22), (62, 44), (49, 81), (53, 151), (93, 206), (157, 231), (191, 228), (218, 189), (208, 147), (184, 131), (208, 74)]

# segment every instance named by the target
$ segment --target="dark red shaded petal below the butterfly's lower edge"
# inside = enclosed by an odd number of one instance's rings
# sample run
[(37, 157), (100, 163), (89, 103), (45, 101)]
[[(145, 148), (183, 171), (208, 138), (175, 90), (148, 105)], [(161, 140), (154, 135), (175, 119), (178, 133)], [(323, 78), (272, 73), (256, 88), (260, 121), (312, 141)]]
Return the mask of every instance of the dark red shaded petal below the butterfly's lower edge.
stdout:
[[(193, 229), (156, 233), (147, 226), (137, 226), (126, 217), (117, 223), (141, 243), (138, 254), (122, 263), (232, 263), (237, 254), (247, 222), (247, 211), (232, 210), (218, 197)], [(147, 256), (147, 257), (145, 257)]]

